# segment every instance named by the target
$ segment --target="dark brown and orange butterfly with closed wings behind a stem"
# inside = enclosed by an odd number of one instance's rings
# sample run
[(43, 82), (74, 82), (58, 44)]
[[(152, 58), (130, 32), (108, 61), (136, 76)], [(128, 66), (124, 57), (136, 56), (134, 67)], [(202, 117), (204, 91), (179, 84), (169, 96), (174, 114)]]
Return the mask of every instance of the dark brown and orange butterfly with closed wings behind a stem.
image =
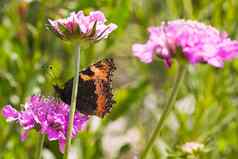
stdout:
[[(112, 73), (116, 70), (113, 59), (96, 62), (80, 72), (76, 108), (87, 115), (104, 117), (115, 103), (112, 94)], [(53, 85), (65, 103), (71, 103), (73, 78), (63, 88)]]

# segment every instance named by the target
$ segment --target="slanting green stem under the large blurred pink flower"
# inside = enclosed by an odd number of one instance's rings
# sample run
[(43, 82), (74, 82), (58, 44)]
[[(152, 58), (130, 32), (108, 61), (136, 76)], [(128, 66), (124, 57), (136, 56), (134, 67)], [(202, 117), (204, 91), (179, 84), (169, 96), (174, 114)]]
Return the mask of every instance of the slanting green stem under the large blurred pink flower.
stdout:
[(168, 117), (169, 112), (173, 108), (174, 102), (175, 102), (177, 94), (178, 94), (178, 90), (179, 90), (179, 88), (181, 86), (181, 83), (184, 79), (186, 70), (187, 69), (186, 69), (186, 66), (184, 64), (179, 65), (179, 71), (178, 71), (177, 77), (175, 79), (175, 83), (173, 85), (172, 92), (171, 92), (171, 95), (168, 99), (167, 105), (164, 107), (164, 111), (163, 111), (163, 113), (160, 117), (160, 120), (159, 120), (151, 138), (149, 139), (149, 142), (147, 143), (144, 151), (141, 153), (140, 159), (145, 159), (146, 158), (146, 155), (148, 154), (148, 152), (149, 152), (151, 146), (153, 145), (153, 143), (155, 142), (157, 135), (160, 133), (160, 130), (161, 130), (166, 118)]

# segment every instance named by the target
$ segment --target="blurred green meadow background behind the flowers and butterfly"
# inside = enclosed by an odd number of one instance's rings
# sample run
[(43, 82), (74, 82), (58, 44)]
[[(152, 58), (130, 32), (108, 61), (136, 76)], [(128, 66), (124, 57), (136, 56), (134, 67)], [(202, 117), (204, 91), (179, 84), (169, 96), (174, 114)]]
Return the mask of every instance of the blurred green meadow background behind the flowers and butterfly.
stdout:
[[(161, 60), (143, 64), (131, 46), (148, 38), (147, 27), (161, 21), (189, 18), (211, 24), (238, 38), (237, 0), (0, 0), (0, 108), (21, 109), (32, 94), (55, 95), (44, 66), (52, 65), (62, 81), (73, 76), (74, 49), (46, 29), (48, 18), (71, 11), (101, 10), (119, 28), (82, 54), (81, 67), (113, 57), (117, 104), (103, 120), (93, 117), (73, 141), (71, 158), (134, 159), (158, 121), (176, 74)], [(148, 159), (179, 157), (189, 141), (205, 145), (199, 158), (238, 157), (238, 61), (223, 69), (189, 66), (174, 111)], [(32, 131), (21, 142), (21, 129), (0, 116), (0, 158), (31, 159), (39, 136)], [(45, 159), (61, 158), (57, 142), (46, 141)], [(134, 158), (133, 158), (134, 157)]]

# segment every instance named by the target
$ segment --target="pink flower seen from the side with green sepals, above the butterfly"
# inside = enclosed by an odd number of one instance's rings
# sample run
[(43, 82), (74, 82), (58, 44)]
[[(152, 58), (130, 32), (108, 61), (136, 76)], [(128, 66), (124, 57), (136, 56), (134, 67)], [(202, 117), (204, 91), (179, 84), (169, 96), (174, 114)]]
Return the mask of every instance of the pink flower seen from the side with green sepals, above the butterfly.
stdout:
[(69, 17), (48, 20), (49, 28), (61, 39), (87, 39), (99, 41), (105, 39), (117, 28), (116, 24), (105, 24), (106, 18), (100, 11), (90, 12), (85, 16), (83, 11), (72, 12)]

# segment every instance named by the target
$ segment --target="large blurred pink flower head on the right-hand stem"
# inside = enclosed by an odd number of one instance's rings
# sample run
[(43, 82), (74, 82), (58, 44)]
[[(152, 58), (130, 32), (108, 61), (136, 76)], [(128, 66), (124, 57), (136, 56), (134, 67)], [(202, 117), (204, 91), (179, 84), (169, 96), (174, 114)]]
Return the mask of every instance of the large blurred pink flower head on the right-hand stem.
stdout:
[(238, 56), (238, 41), (228, 38), (227, 33), (196, 21), (163, 22), (161, 26), (150, 27), (148, 31), (149, 40), (132, 47), (134, 56), (145, 63), (152, 62), (157, 55), (170, 66), (178, 48), (182, 51), (182, 57), (191, 64), (208, 63), (223, 67), (224, 61)]

